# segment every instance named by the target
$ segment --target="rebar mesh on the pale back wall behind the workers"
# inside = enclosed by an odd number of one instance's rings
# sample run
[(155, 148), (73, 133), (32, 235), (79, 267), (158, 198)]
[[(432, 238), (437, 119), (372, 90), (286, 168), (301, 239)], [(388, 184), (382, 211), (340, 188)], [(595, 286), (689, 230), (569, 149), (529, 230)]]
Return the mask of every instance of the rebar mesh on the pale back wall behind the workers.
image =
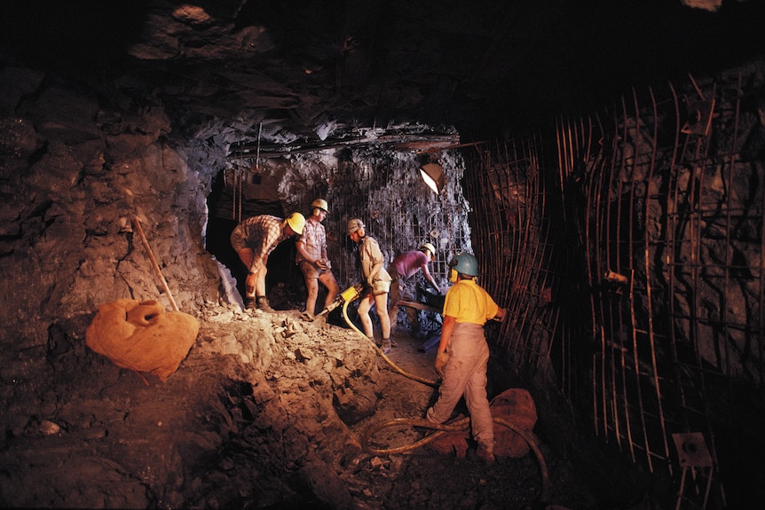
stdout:
[[(290, 161), (299, 166), (298, 158)], [(343, 288), (359, 282), (356, 255), (346, 232), (352, 217), (367, 226), (367, 235), (375, 238), (387, 268), (393, 258), (416, 250), (424, 242), (436, 247), (430, 273), (446, 288), (448, 263), (461, 250), (472, 250), (468, 223), (469, 206), (462, 194), (464, 161), (460, 153), (444, 151), (438, 161), (446, 174), (446, 188), (436, 194), (424, 184), (415, 153), (390, 150), (349, 150), (326, 168), (300, 176), (292, 172), (282, 181), (282, 195), (299, 197), (296, 210), (309, 212), (315, 198), (329, 204), (325, 220), (327, 255), (332, 271)], [(405, 282), (405, 291), (417, 295), (424, 286), (422, 273)], [(375, 318), (373, 318), (375, 320)]]

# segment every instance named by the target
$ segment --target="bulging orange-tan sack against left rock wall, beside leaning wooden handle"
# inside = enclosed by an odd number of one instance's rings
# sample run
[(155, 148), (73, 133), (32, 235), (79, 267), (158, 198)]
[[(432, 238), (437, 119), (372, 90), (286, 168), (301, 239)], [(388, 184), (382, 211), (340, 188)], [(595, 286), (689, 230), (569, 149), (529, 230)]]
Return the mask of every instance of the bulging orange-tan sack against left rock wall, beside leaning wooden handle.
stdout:
[(167, 380), (188, 355), (199, 321), (187, 313), (165, 313), (154, 300), (118, 299), (99, 305), (85, 331), (85, 344), (114, 365)]

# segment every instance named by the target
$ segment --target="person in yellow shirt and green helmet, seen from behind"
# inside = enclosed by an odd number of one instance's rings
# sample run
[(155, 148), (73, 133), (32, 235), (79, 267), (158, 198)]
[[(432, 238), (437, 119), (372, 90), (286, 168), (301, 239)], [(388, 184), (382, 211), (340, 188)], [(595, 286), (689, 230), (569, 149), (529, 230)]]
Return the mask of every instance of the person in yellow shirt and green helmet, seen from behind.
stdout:
[(461, 252), (449, 263), (449, 281), (454, 285), (446, 293), (444, 323), (438, 342), (436, 372), (441, 376), (438, 401), (426, 413), (433, 423), (449, 420), (454, 407), (465, 396), (470, 413), (470, 427), (478, 443), (478, 458), (494, 462), (492, 411), (486, 396), (486, 366), (489, 346), (484, 325), (487, 320), (501, 320), (506, 310), (500, 308), (476, 283), (478, 261)]

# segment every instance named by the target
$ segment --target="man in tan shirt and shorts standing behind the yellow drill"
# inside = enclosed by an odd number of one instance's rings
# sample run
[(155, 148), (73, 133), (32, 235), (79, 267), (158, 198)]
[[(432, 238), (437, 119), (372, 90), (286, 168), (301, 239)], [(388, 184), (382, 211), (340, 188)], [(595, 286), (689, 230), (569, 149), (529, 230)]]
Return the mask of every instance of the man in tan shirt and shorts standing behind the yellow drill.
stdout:
[(348, 220), (348, 237), (359, 247), (361, 276), (366, 284), (365, 290), (359, 298), (359, 309), (357, 310), (361, 325), (364, 326), (364, 334), (369, 340), (375, 340), (372, 331), (372, 318), (369, 317), (369, 310), (374, 304), (382, 327), (382, 341), (379, 347), (382, 348), (384, 354), (388, 354), (390, 352), (390, 318), (388, 318), (390, 275), (382, 267), (383, 256), (380, 245), (374, 238), (367, 236), (364, 222), (359, 218)]

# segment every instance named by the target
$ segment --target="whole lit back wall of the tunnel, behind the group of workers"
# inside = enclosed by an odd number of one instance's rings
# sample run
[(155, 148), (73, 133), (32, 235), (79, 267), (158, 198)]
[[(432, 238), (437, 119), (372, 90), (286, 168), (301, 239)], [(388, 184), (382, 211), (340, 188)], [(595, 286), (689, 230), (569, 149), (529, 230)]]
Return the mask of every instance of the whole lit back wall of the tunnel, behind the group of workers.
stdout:
[[(411, 149), (371, 144), (296, 151), (260, 160), (232, 152), (221, 170), (225, 177), (218, 177), (228, 184), (210, 200), (210, 225), (214, 221), (233, 229), (243, 218), (264, 214), (266, 206), (276, 210), (269, 214), (298, 211), (307, 217), (312, 201), (322, 198), (329, 208), (323, 223), (327, 231), (327, 256), (341, 289), (360, 281), (357, 256), (346, 232), (351, 217), (359, 217), (367, 225), (367, 235), (380, 244), (386, 267), (403, 252), (415, 250), (424, 242), (433, 244), (437, 253), (430, 271), (446, 289), (447, 264), (452, 255), (471, 250), (469, 204), (461, 189), (464, 168), (461, 153), (445, 150), (435, 157), (446, 174), (445, 188), (440, 193), (432, 192), (420, 177), (422, 157)], [(208, 239), (214, 234), (209, 229)], [(209, 247), (221, 262), (227, 239), (227, 235), (220, 236), (217, 246)], [(303, 306), (305, 289), (295, 263), (296, 249), (290, 241), (283, 245), (269, 257), (270, 299), (286, 300), (286, 307)], [(241, 283), (245, 275), (243, 266), (235, 255), (226, 259), (226, 265)], [(425, 286), (422, 273), (404, 285), (413, 298), (421, 295), (427, 299), (422, 293)]]

